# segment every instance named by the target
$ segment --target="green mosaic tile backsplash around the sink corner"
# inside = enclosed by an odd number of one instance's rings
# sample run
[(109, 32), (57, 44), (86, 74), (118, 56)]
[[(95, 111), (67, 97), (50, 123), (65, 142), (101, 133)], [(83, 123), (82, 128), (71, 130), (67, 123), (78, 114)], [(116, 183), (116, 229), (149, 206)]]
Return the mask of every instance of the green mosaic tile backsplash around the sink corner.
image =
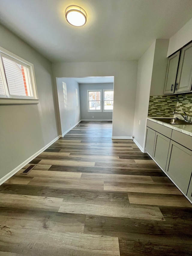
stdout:
[(150, 96), (148, 116), (173, 117), (173, 111), (192, 116), (192, 94)]

